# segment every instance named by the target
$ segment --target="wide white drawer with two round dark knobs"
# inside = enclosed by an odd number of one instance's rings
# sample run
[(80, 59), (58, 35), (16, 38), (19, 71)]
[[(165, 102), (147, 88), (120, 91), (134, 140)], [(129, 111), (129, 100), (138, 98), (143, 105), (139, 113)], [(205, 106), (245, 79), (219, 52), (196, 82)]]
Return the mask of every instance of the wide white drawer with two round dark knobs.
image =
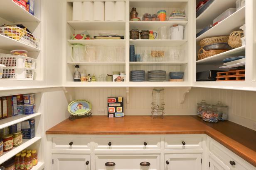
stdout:
[(95, 149), (160, 149), (160, 138), (95, 138)]

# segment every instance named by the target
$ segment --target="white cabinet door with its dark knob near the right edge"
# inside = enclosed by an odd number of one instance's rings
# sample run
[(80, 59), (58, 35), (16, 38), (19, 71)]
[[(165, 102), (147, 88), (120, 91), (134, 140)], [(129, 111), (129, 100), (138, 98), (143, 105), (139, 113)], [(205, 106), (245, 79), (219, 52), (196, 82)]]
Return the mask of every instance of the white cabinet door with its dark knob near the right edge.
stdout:
[(90, 170), (90, 155), (53, 154), (53, 170)]

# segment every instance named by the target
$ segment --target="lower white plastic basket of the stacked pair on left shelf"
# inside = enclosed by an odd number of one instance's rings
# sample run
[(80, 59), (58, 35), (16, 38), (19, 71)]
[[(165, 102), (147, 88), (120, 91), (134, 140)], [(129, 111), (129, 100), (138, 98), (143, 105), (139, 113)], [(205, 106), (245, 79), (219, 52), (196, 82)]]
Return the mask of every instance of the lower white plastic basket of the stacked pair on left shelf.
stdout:
[(2, 73), (2, 79), (15, 79), (15, 80), (33, 80), (34, 69), (5, 67)]

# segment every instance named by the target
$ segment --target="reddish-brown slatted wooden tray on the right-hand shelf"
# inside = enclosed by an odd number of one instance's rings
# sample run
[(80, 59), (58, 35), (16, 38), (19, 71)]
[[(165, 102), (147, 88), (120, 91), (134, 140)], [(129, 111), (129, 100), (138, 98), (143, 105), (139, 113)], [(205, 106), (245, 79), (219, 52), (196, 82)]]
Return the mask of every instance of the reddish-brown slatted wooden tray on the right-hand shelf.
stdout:
[(217, 81), (245, 81), (245, 69), (217, 72)]

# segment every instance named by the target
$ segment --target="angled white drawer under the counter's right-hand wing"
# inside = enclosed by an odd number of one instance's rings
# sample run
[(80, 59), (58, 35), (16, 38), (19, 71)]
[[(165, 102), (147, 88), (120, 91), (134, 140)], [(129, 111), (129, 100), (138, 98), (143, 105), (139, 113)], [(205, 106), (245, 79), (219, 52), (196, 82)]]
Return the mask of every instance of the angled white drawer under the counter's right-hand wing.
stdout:
[[(210, 152), (232, 170), (249, 170), (246, 168), (247, 163), (245, 160), (239, 158), (239, 156), (214, 140), (210, 141)], [(230, 161), (234, 161), (235, 165), (231, 165), (233, 162), (230, 163)]]

